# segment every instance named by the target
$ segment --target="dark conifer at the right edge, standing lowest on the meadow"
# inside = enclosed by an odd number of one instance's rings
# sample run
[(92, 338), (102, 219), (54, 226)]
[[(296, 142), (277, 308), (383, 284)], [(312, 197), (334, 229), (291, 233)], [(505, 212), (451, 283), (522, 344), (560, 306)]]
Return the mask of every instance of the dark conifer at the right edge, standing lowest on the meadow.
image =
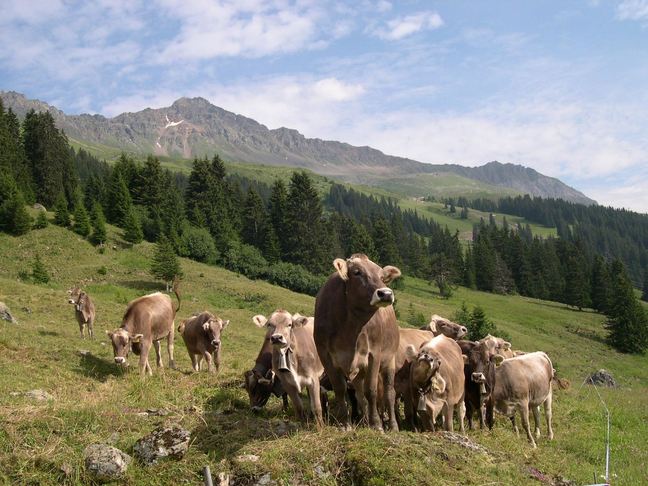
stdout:
[(607, 341), (622, 353), (644, 354), (648, 349), (648, 316), (634, 295), (625, 265), (614, 259), (611, 268)]

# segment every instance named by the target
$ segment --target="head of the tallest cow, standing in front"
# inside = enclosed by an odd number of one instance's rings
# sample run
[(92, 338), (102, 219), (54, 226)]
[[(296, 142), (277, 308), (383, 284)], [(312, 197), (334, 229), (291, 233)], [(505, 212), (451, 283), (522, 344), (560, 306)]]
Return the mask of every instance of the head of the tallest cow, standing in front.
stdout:
[(400, 270), (395, 266), (380, 268), (362, 253), (355, 253), (347, 260), (338, 258), (333, 266), (346, 283), (350, 303), (373, 308), (394, 303), (394, 293), (385, 284), (400, 277)]

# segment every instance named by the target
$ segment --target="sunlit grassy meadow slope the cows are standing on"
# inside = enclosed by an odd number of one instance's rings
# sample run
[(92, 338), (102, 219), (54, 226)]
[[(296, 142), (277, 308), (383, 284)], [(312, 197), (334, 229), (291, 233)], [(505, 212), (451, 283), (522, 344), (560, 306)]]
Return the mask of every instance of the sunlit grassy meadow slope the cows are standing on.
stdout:
[[(238, 388), (264, 335), (252, 316), (268, 316), (276, 308), (312, 316), (315, 299), (222, 268), (181, 259), (185, 275), (176, 318), (176, 327), (195, 311), (230, 319), (220, 371), (192, 372), (176, 333), (176, 370), (167, 367), (163, 343), (165, 367), (157, 368), (150, 356), (153, 376), (140, 378), (136, 366), (120, 373), (104, 331), (119, 327), (129, 301), (165, 286), (149, 272), (153, 245), (133, 248), (119, 229), (108, 228), (110, 241), (103, 250), (53, 225), (24, 237), (0, 233), (0, 301), (18, 321), (0, 321), (0, 484), (94, 485), (84, 467), (86, 446), (110, 443), (132, 455), (133, 443), (160, 424), (188, 428), (189, 452), (179, 461), (153, 466), (135, 459), (127, 476), (113, 484), (198, 485), (204, 465), (214, 476), (225, 472), (236, 485), (256, 484), (268, 473), (284, 485), (550, 485), (555, 476), (586, 485), (594, 474), (603, 482), (605, 413), (594, 388), (581, 386), (587, 373), (601, 368), (623, 387), (599, 389), (611, 412), (611, 483), (648, 483), (648, 358), (610, 349), (603, 316), (465, 288), (445, 301), (436, 288), (406, 276), (396, 303), (402, 327), (410, 303), (414, 312), (450, 317), (465, 302), (470, 310), (483, 307), (511, 335), (514, 349), (551, 356), (557, 375), (572, 381), (569, 390), (555, 388), (555, 439), (546, 439), (543, 421), (543, 437), (532, 449), (503, 417), (491, 432), (468, 432), (483, 452), (441, 433), (380, 434), (362, 427), (338, 432), (332, 425), (318, 430), (298, 424), (292, 407), (284, 414), (274, 397), (262, 413), (251, 413), (245, 391)], [(52, 276), (49, 284), (29, 282), (37, 254)], [(67, 304), (65, 291), (77, 285), (97, 308), (97, 340), (80, 339)], [(32, 389), (47, 391), (54, 400), (36, 402), (12, 393)], [(260, 459), (237, 461), (243, 454)]]

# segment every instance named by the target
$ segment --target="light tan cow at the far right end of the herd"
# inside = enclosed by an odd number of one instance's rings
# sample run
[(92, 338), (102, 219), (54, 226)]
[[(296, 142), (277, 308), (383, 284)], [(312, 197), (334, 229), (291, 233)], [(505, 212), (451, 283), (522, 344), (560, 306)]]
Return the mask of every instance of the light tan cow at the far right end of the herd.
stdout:
[[(522, 426), (527, 433), (529, 443), (534, 448), (536, 445), (529, 427), (529, 410), (533, 410), (535, 436), (540, 437), (540, 405), (544, 406), (547, 436), (549, 439), (553, 439), (553, 430), (551, 430), (552, 379), (556, 378), (551, 360), (542, 351), (508, 358), (495, 368), (495, 386), (491, 394), (492, 408), (497, 413), (511, 419), (513, 428), (518, 435), (515, 412), (520, 411)], [(561, 389), (570, 386), (566, 380), (556, 381)], [(489, 427), (492, 428), (492, 417), (487, 417), (487, 421)]]

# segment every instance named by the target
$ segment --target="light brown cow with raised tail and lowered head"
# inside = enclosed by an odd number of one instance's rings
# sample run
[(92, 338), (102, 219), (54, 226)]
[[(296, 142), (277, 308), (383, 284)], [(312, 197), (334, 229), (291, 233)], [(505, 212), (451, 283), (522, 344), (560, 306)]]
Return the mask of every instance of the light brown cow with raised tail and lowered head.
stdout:
[(156, 292), (155, 294), (144, 295), (128, 304), (119, 329), (114, 332), (106, 330), (106, 334), (108, 334), (113, 344), (113, 354), (117, 365), (128, 365), (126, 358), (132, 347), (133, 353), (139, 354), (139, 372), (141, 375), (145, 373), (152, 375), (153, 372), (148, 364), (148, 352), (151, 345), (154, 345), (157, 354), (157, 365), (161, 367), (162, 355), (160, 354), (159, 341), (167, 338), (169, 366), (175, 368), (173, 362), (173, 336), (174, 319), (180, 309), (178, 277), (174, 281), (173, 292), (178, 298), (177, 308), (173, 308), (171, 297), (167, 294)]

